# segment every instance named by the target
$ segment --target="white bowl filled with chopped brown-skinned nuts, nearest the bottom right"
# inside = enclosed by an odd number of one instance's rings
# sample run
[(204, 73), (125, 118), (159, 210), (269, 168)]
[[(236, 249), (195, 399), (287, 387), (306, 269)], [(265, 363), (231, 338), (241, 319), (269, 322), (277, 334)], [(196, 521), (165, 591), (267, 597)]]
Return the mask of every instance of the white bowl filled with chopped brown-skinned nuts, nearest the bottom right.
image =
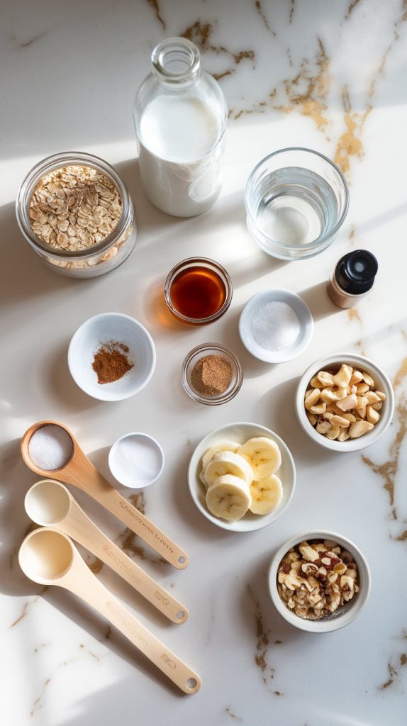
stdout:
[(324, 633), (349, 625), (370, 594), (368, 563), (349, 539), (306, 531), (279, 547), (268, 568), (271, 600), (290, 624)]

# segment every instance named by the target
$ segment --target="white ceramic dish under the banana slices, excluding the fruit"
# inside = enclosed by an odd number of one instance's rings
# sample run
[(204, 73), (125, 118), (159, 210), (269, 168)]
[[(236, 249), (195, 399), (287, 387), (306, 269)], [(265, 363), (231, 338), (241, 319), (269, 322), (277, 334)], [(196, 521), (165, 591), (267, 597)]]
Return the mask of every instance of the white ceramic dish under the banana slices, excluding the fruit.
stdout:
[[(237, 522), (229, 522), (225, 519), (215, 517), (207, 509), (205, 502), (205, 486), (200, 481), (200, 470), (202, 468), (202, 456), (205, 454), (210, 446), (213, 446), (221, 439), (229, 439), (236, 441), (237, 444), (244, 444), (247, 439), (252, 439), (254, 436), (267, 436), (269, 439), (276, 441), (281, 451), (281, 467), (276, 472), (277, 476), (281, 479), (283, 485), (283, 497), (279, 506), (271, 512), (265, 515), (256, 515), (251, 512), (239, 519)], [(204, 515), (210, 522), (213, 522), (222, 529), (229, 529), (234, 532), (248, 532), (254, 529), (262, 529), (268, 526), (271, 522), (274, 522), (283, 512), (287, 509), (289, 502), (291, 502), (292, 495), (295, 489), (295, 463), (292, 458), (292, 454), (289, 451), (287, 444), (277, 436), (274, 431), (271, 431), (266, 426), (260, 426), (256, 423), (231, 423), (221, 428), (216, 428), (215, 431), (208, 433), (205, 439), (202, 439), (197, 445), (194, 453), (192, 454), (191, 461), (189, 462), (188, 469), (188, 486), (189, 492), (191, 492), (192, 499), (195, 505), (197, 505), (200, 513)]]

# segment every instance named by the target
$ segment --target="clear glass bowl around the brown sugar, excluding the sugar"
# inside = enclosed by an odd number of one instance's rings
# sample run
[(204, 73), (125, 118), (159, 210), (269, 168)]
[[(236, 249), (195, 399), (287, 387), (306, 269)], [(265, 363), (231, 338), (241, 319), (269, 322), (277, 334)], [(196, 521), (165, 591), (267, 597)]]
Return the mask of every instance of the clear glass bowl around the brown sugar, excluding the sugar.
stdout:
[[(222, 356), (231, 364), (232, 368), (231, 383), (226, 388), (226, 391), (218, 396), (205, 396), (202, 393), (198, 393), (191, 380), (195, 363), (204, 356), (210, 355)], [(231, 401), (239, 393), (243, 383), (243, 370), (237, 357), (228, 348), (218, 345), (218, 343), (204, 343), (202, 346), (193, 348), (192, 351), (189, 351), (186, 358), (184, 358), (181, 368), (181, 379), (184, 390), (194, 401), (199, 401), (201, 404), (206, 404), (207, 406), (218, 406), (219, 404), (225, 404), (226, 401)]]

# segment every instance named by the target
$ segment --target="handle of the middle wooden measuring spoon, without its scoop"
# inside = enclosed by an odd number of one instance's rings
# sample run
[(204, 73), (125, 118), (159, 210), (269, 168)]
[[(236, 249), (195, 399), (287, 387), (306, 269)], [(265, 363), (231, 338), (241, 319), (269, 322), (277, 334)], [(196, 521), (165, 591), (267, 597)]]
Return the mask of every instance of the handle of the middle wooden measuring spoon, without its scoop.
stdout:
[[(59, 526), (57, 525), (55, 529), (59, 529)], [(71, 497), (69, 515), (62, 522), (61, 529), (99, 557), (174, 623), (181, 624), (186, 621), (188, 611), (184, 605), (178, 603), (175, 597), (120, 550), (120, 547), (83, 512), (73, 497)]]

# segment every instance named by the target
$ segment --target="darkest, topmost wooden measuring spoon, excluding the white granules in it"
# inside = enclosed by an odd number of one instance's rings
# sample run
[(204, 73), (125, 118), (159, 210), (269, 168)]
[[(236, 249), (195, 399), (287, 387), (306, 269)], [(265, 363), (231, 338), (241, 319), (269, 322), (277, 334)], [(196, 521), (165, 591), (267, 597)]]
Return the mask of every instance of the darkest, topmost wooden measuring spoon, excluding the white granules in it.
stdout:
[[(41, 469), (30, 459), (28, 446), (33, 433), (41, 426), (54, 425), (63, 428), (69, 434), (73, 443), (73, 454), (70, 460), (66, 462), (60, 469), (45, 470)], [(38, 421), (34, 423), (28, 431), (25, 431), (21, 441), (21, 454), (25, 464), (31, 471), (43, 477), (51, 476), (58, 481), (66, 481), (67, 484), (74, 484), (78, 489), (89, 494), (90, 497), (96, 499), (96, 502), (105, 509), (114, 514), (121, 522), (138, 534), (144, 542), (147, 542), (153, 550), (163, 557), (167, 562), (171, 563), (178, 569), (184, 569), (189, 563), (189, 557), (186, 555), (178, 544), (167, 537), (163, 531), (158, 529), (151, 520), (144, 514), (141, 514), (136, 507), (133, 507), (125, 497), (119, 494), (118, 490), (109, 484), (108, 481), (99, 473), (92, 462), (83, 453), (81, 446), (76, 441), (75, 436), (67, 426), (59, 421)]]

